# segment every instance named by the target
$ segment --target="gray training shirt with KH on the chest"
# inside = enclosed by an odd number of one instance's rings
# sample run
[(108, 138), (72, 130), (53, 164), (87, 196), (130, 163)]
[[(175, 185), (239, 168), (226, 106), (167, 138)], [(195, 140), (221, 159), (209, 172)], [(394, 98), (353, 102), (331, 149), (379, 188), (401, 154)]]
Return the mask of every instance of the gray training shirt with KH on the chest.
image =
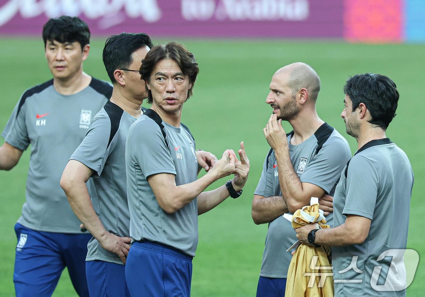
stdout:
[(20, 150), (31, 144), (26, 202), (18, 223), (37, 231), (81, 234), (59, 181), (92, 117), (111, 94), (112, 86), (94, 77), (73, 95), (58, 93), (53, 79), (23, 93), (2, 133)]

